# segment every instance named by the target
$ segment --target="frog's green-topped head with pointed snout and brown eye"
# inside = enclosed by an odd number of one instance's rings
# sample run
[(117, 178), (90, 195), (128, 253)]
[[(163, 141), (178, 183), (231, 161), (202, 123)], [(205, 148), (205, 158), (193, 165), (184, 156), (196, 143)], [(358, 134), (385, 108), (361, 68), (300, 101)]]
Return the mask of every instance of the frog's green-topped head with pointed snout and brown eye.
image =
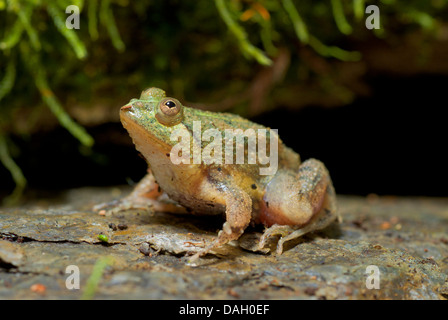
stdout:
[[(137, 149), (143, 149), (144, 145), (172, 147), (175, 142), (170, 140), (171, 133), (181, 125), (183, 118), (182, 104), (166, 97), (165, 91), (158, 88), (144, 90), (139, 99), (132, 99), (120, 109), (121, 122)], [(139, 151), (145, 155), (143, 150)]]

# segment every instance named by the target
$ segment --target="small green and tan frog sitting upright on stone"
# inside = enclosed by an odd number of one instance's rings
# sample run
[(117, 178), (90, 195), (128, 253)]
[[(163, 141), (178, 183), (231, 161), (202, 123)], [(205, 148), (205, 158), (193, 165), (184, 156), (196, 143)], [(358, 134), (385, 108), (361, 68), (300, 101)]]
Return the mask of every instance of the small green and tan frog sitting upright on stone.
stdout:
[[(155, 87), (143, 90), (139, 99), (122, 106), (120, 120), (146, 160), (148, 172), (129, 195), (95, 210), (152, 208), (155, 212), (222, 215), (225, 221), (217, 237), (193, 252), (190, 262), (238, 240), (249, 225), (265, 228), (257, 245), (260, 251), (269, 239), (279, 237), (275, 253), (281, 255), (285, 242), (340, 219), (335, 189), (325, 165), (314, 158), (302, 162), (300, 155), (270, 128), (236, 114), (184, 106)], [(260, 160), (173, 161), (173, 149), (179, 143), (179, 138), (173, 139), (173, 133), (184, 130), (193, 133), (192, 141), (198, 140), (200, 135), (193, 132), (198, 122), (201, 134), (208, 129), (266, 130), (277, 138), (276, 149), (267, 146), (267, 152), (275, 153), (276, 170), (260, 174), (260, 169), (266, 167), (266, 161)], [(204, 141), (196, 142), (200, 151), (206, 148)], [(183, 159), (192, 158), (185, 153)], [(247, 155), (247, 149), (244, 154)], [(234, 154), (223, 156), (224, 160), (232, 157)]]

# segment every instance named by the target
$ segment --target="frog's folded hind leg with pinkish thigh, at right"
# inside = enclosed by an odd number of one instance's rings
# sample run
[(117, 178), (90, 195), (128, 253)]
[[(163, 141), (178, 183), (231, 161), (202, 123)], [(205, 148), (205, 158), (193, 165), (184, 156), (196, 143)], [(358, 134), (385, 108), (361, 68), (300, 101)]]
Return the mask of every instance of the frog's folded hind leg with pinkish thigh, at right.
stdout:
[(267, 239), (280, 235), (277, 254), (286, 241), (327, 227), (338, 216), (336, 194), (324, 164), (310, 159), (303, 162), (297, 174), (279, 172), (268, 184), (261, 215), (270, 226), (262, 235), (259, 248)]

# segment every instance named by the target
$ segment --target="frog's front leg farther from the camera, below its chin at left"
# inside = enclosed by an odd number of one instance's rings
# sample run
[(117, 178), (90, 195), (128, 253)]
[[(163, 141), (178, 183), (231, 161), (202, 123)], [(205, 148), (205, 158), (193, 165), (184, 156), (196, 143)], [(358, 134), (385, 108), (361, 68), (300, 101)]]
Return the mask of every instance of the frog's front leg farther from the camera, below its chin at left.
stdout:
[(101, 203), (93, 207), (94, 211), (106, 210), (115, 213), (129, 209), (149, 209), (157, 212), (185, 213), (185, 208), (170, 202), (166, 194), (160, 190), (159, 185), (148, 169), (146, 176), (140, 180), (132, 192), (122, 198), (111, 202)]

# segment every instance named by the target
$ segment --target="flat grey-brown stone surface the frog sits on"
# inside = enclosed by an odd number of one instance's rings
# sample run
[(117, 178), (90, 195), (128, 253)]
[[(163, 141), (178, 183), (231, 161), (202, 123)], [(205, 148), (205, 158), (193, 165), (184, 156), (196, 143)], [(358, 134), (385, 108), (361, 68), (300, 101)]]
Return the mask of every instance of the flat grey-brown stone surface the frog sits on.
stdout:
[[(339, 196), (342, 222), (286, 243), (281, 256), (250, 251), (262, 229), (249, 228), (193, 266), (187, 253), (211, 241), (223, 220), (90, 211), (127, 191), (83, 188), (1, 209), (0, 299), (79, 299), (104, 257), (111, 260), (95, 299), (448, 297), (448, 199)], [(66, 287), (71, 265), (79, 290)], [(379, 289), (366, 286), (368, 266), (378, 268)]]

